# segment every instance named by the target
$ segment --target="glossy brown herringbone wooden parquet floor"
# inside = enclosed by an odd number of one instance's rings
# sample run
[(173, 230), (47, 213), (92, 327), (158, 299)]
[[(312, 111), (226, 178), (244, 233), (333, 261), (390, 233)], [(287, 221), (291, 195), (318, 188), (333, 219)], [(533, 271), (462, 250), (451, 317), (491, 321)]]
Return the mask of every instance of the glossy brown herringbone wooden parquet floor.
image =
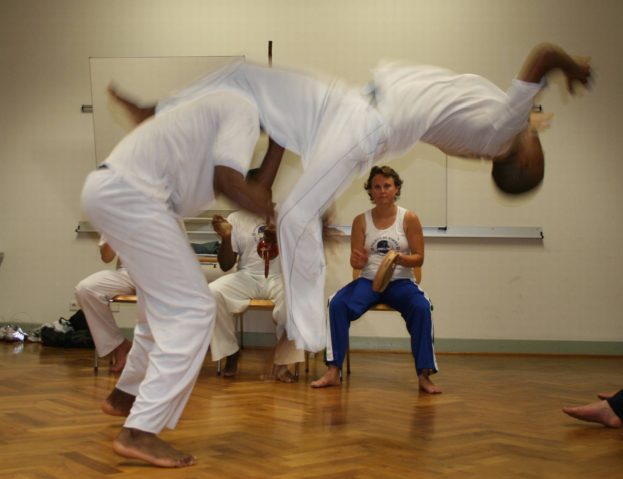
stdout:
[(562, 405), (623, 387), (623, 358), (439, 354), (417, 390), (409, 354), (351, 353), (341, 387), (259, 379), (265, 349), (245, 349), (237, 377), (206, 361), (164, 440), (199, 458), (155, 468), (118, 457), (123, 424), (100, 410), (118, 373), (93, 351), (0, 343), (0, 477), (55, 478), (623, 478), (621, 429), (572, 419)]

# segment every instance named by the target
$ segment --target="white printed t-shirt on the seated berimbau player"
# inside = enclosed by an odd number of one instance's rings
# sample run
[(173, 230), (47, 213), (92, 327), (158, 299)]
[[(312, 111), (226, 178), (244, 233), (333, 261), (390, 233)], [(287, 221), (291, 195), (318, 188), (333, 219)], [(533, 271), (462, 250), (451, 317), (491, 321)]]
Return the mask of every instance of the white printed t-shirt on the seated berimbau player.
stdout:
[[(257, 254), (257, 244), (264, 238), (266, 217), (240, 210), (227, 217), (232, 225), (232, 250), (239, 255), (237, 270), (264, 274), (264, 260)], [(270, 260), (269, 275), (281, 273), (279, 257)]]

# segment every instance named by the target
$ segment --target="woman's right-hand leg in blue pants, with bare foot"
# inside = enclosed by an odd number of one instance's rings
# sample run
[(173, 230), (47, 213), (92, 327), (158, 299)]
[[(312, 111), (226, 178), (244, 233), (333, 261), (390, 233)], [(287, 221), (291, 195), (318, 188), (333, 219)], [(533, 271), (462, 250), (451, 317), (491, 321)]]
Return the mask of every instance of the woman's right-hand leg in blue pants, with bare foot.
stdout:
[(404, 279), (390, 282), (382, 298), (406, 321), (420, 389), (430, 393), (441, 392), (429, 379), (429, 374), (437, 372), (437, 360), (432, 345), (430, 301), (426, 294), (415, 282)]

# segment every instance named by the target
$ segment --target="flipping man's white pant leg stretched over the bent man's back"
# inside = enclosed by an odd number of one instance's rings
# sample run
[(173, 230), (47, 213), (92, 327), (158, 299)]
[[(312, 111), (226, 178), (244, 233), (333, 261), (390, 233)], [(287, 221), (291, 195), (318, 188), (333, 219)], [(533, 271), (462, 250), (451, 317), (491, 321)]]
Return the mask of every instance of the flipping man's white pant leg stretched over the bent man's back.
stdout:
[[(234, 62), (161, 100), (156, 115), (214, 92), (234, 93), (253, 103), (264, 131), (278, 145), (300, 154), (303, 169), (307, 168), (323, 114), (348, 95), (336, 82), (324, 83), (297, 73)], [(358, 95), (348, 98), (360, 101)]]

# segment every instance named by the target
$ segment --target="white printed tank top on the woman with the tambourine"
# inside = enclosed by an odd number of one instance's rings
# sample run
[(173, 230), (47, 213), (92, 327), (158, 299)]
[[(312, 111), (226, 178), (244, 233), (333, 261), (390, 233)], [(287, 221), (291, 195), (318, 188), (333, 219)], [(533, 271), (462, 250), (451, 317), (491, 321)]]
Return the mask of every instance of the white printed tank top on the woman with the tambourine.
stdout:
[[(361, 270), (360, 277), (373, 280), (376, 272), (381, 266), (385, 255), (389, 251), (394, 250), (397, 253), (404, 255), (410, 255), (411, 249), (409, 249), (409, 242), (407, 241), (407, 235), (402, 229), (402, 222), (404, 221), (404, 214), (407, 212), (403, 207), (398, 207), (396, 211), (396, 221), (388, 229), (378, 230), (374, 226), (372, 221), (372, 210), (369, 209), (365, 212), (366, 215), (366, 239), (364, 245), (368, 252), (368, 263)], [(413, 274), (413, 268), (407, 268), (404, 266), (397, 266), (392, 276), (392, 281), (403, 278), (415, 279)]]

